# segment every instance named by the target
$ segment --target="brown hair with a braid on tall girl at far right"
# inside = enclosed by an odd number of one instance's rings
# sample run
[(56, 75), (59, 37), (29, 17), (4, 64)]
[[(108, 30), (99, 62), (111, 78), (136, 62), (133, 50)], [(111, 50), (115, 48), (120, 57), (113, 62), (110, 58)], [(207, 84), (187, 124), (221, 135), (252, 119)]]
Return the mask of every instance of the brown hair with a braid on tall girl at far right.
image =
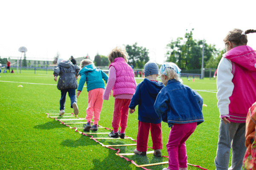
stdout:
[(233, 29), (231, 31), (229, 31), (226, 35), (226, 37), (223, 39), (224, 43), (227, 44), (227, 41), (233, 42), (236, 46), (240, 46), (240, 45), (247, 45), (247, 35), (246, 34), (250, 34), (250, 33), (254, 33), (256, 32), (256, 30), (253, 29), (248, 29), (246, 31), (243, 31), (241, 29)]

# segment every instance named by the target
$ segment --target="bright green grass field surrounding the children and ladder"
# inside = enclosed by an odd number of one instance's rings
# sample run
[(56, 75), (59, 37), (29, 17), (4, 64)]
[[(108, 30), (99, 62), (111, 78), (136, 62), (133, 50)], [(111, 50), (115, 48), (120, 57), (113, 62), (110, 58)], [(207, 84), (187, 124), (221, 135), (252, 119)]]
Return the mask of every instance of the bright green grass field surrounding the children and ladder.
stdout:
[[(79, 81), (79, 79), (78, 79)], [(137, 79), (137, 83), (142, 81)], [(23, 83), (26, 82), (26, 83)], [(32, 84), (28, 84), (32, 83)], [(34, 84), (33, 84), (34, 83)], [(38, 83), (38, 84), (37, 84)], [(188, 163), (196, 164), (208, 170), (215, 169), (214, 158), (218, 142), (219, 112), (216, 99), (216, 80), (196, 79), (183, 84), (198, 90), (204, 98), (204, 120), (186, 142)], [(18, 87), (22, 85), (23, 87)], [(0, 169), (65, 169), (65, 170), (140, 170), (131, 162), (116, 156), (116, 150), (102, 147), (100, 144), (81, 135), (45, 113), (58, 113), (60, 91), (56, 87), (52, 74), (0, 74)], [(85, 84), (86, 85), (86, 84)], [(206, 90), (206, 91), (204, 91)], [(78, 99), (79, 117), (86, 116), (87, 90), (84, 87)], [(104, 100), (99, 125), (111, 128), (114, 98)], [(66, 99), (66, 113), (72, 113), (70, 99)], [(51, 115), (53, 116), (53, 115)], [(57, 115), (58, 116), (58, 115)], [(65, 116), (65, 115), (64, 115)], [(136, 112), (129, 114), (125, 135), (137, 138), (138, 120)], [(66, 119), (68, 119), (67, 117)], [(62, 118), (64, 119), (64, 117)], [(85, 121), (85, 120), (84, 120)], [(66, 121), (68, 122), (68, 121)], [(82, 127), (82, 124), (71, 124)], [(83, 131), (79, 129), (79, 131)], [(170, 128), (162, 122), (163, 150), (168, 156), (166, 143)], [(98, 132), (110, 132), (99, 129)], [(93, 137), (107, 137), (96, 134)], [(131, 144), (131, 140), (99, 139), (103, 144)], [(152, 146), (149, 136), (148, 146)], [(114, 147), (120, 153), (133, 153), (136, 146)], [(148, 148), (148, 151), (151, 151)], [(147, 156), (125, 156), (137, 164), (151, 164), (168, 161), (167, 158)], [(161, 170), (167, 164), (146, 167)], [(197, 167), (188, 167), (196, 170)]]

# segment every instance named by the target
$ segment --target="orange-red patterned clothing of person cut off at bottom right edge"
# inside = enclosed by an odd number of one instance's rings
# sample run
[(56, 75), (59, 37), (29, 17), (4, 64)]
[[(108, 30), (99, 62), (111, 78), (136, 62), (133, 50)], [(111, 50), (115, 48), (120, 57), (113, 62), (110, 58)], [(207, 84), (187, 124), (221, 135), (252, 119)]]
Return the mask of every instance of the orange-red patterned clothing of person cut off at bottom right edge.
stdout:
[(256, 102), (249, 108), (245, 127), (245, 146), (247, 150), (244, 155), (243, 169), (255, 170), (256, 168)]

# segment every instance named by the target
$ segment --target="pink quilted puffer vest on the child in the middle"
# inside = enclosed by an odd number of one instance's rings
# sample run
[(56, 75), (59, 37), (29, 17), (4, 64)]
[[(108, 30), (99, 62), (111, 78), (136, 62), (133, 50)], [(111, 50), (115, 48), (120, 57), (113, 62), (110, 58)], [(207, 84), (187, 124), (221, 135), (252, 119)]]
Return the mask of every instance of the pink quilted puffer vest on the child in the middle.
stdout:
[(116, 82), (113, 87), (113, 96), (119, 94), (134, 94), (134, 72), (130, 65), (125, 62), (125, 59), (118, 57), (109, 65), (116, 69)]

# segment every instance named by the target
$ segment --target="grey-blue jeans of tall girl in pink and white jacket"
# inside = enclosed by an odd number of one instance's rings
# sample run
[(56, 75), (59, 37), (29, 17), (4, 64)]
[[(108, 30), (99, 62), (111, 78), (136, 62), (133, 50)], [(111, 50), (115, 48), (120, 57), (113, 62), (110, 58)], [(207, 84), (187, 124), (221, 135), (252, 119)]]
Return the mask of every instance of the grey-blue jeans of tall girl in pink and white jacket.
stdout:
[[(228, 167), (230, 148), (232, 148), (232, 162), (231, 167)], [(217, 154), (214, 160), (216, 170), (241, 170), (245, 151), (245, 123), (230, 122), (226, 125), (221, 119)]]

